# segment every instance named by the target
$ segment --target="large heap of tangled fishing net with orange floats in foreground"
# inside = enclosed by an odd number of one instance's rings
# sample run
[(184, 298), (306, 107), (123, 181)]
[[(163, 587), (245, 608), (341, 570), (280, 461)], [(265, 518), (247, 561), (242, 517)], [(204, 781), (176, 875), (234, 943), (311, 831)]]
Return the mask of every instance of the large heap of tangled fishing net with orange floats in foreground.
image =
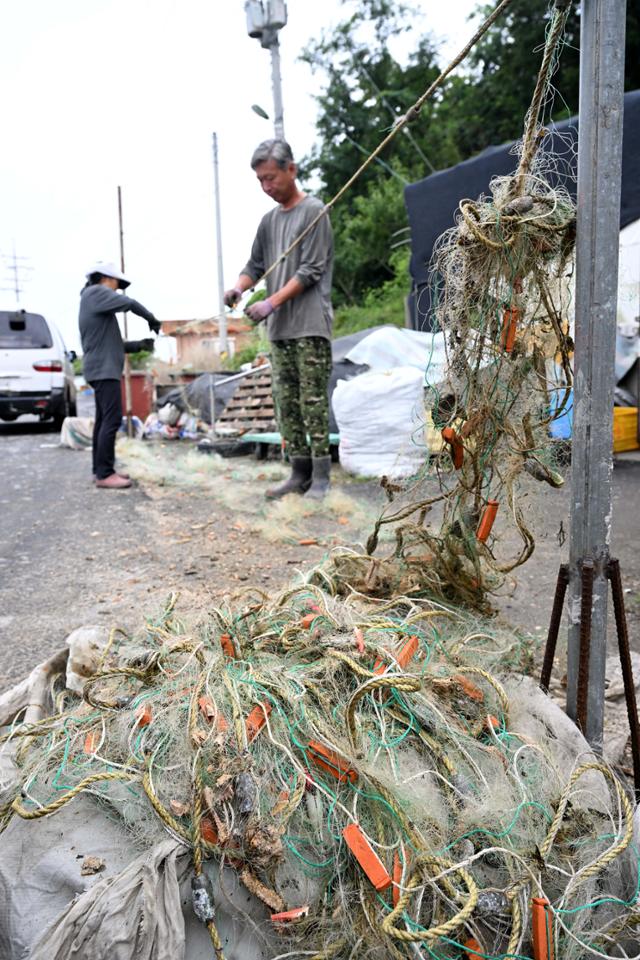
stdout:
[(530, 652), (409, 598), (304, 585), (197, 628), (169, 603), (112, 632), (82, 696), (54, 679), (58, 710), (5, 736), (4, 825), (89, 793), (143, 848), (173, 837), (218, 957), (239, 954), (208, 863), (257, 898), (265, 957), (527, 957), (532, 898), (553, 907), (556, 956), (609, 955), (638, 920), (632, 810), (515, 679)]

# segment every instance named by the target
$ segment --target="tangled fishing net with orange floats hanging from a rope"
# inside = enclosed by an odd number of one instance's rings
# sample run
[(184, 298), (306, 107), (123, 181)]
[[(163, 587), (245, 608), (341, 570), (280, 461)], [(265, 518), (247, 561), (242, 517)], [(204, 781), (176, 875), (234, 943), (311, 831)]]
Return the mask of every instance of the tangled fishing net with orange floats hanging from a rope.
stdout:
[[(571, 397), (575, 209), (553, 176), (538, 119), (566, 16), (567, 5), (556, 5), (517, 169), (496, 177), (487, 196), (462, 200), (456, 226), (434, 251), (433, 319), (448, 372), (433, 383), (427, 370), (425, 408), (447, 452), (408, 486), (387, 482), (389, 505), (367, 556), (345, 554), (334, 564), (347, 586), (391, 596), (409, 575), (415, 591), (488, 612), (489, 597), (534, 550), (532, 489), (563, 483), (549, 425)], [(374, 554), (387, 524), (396, 543), (381, 560)], [(517, 544), (505, 555), (509, 527)]]

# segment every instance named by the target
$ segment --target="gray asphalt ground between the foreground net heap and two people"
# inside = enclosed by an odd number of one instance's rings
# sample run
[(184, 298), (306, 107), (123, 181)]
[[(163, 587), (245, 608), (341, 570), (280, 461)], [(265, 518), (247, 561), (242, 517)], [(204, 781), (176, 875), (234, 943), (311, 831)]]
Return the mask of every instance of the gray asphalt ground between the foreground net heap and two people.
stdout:
[[(0, 423), (0, 691), (78, 626), (135, 629), (173, 590), (179, 590), (185, 608), (205, 610), (214, 598), (251, 583), (277, 589), (295, 569), (318, 562), (331, 542), (267, 543), (244, 529), (241, 513), (197, 491), (97, 490), (89, 454), (62, 449), (57, 440), (57, 434), (26, 419)], [(234, 483), (231, 473), (224, 482)], [(640, 456), (619, 457), (612, 553), (621, 561), (632, 645), (638, 650), (639, 483)], [(372, 500), (380, 500), (371, 484), (348, 490), (369, 509)], [(261, 496), (261, 489), (255, 495)], [(518, 571), (518, 586), (501, 608), (514, 625), (543, 635), (558, 564), (566, 559), (560, 524), (568, 533), (569, 500), (568, 491), (549, 488), (540, 498), (534, 511), (536, 552)], [(333, 527), (347, 541), (359, 533), (335, 522)]]

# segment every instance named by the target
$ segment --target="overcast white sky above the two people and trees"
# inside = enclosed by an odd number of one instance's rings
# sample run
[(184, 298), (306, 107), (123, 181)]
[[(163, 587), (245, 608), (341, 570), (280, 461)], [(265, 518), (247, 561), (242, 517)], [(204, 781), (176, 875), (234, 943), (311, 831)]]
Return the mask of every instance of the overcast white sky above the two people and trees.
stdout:
[[(419, 0), (422, 22), (454, 53), (475, 0)], [(347, 8), (348, 9), (348, 8)], [(297, 62), (347, 12), (340, 0), (288, 0), (280, 34), (285, 134), (314, 140), (321, 78)], [(119, 261), (122, 185), (131, 295), (160, 319), (217, 312), (211, 135), (219, 139), (225, 286), (271, 203), (249, 167), (272, 125), (270, 57), (246, 33), (243, 0), (0, 0), (0, 253), (19, 256), (21, 305), (78, 348), (78, 294), (93, 261)], [(381, 132), (381, 137), (382, 137)], [(28, 281), (28, 282), (27, 282)], [(0, 264), (0, 286), (11, 285)], [(12, 292), (0, 309), (12, 309)], [(130, 317), (129, 335), (146, 323)]]

